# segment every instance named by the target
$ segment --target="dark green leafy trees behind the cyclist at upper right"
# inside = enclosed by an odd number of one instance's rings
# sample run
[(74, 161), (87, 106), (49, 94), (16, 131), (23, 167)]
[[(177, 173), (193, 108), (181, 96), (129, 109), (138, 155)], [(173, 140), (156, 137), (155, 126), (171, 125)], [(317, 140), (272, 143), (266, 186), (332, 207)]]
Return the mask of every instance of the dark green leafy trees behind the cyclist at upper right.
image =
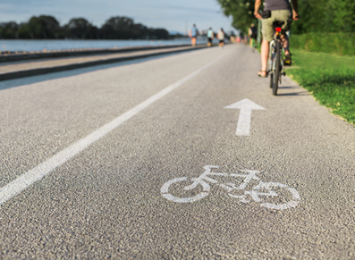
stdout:
[[(232, 26), (247, 32), (254, 17), (255, 1), (216, 0), (226, 16), (232, 16)], [(263, 1), (264, 2), (264, 1)], [(292, 23), (292, 33), (355, 32), (354, 0), (298, 0), (300, 20)], [(262, 5), (263, 6), (263, 5)]]

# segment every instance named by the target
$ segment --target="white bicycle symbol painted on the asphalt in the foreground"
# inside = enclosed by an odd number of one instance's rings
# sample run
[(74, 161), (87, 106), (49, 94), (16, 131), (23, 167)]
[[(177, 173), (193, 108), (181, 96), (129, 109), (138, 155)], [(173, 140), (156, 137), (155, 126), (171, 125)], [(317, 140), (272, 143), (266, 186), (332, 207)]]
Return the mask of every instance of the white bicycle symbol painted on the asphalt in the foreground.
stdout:
[[(246, 172), (247, 174), (236, 174), (236, 173), (224, 173), (224, 172), (211, 172), (212, 168), (219, 168), (219, 166), (214, 166), (214, 165), (206, 165), (203, 167), (206, 171), (203, 172), (199, 178), (191, 178), (193, 181), (190, 186), (186, 186), (183, 189), (184, 190), (191, 190), (197, 188), (199, 185), (202, 186), (202, 191), (194, 196), (194, 197), (174, 197), (172, 194), (169, 193), (169, 187), (176, 182), (179, 181), (186, 181), (188, 180), (187, 177), (182, 177), (182, 178), (176, 178), (173, 180), (168, 180), (165, 182), (163, 187), (160, 189), (162, 196), (165, 197), (168, 200), (171, 200), (173, 202), (179, 202), (179, 203), (189, 203), (189, 202), (195, 202), (198, 201), (199, 199), (203, 197), (207, 197), (210, 187), (208, 182), (211, 183), (216, 183), (219, 184), (220, 187), (223, 189), (226, 189), (228, 191), (228, 195), (230, 197), (235, 197), (235, 198), (240, 198), (240, 202), (242, 203), (249, 203), (250, 200), (248, 200), (248, 197), (251, 197), (255, 202), (263, 202), (263, 200), (260, 197), (277, 197), (279, 194), (275, 192), (272, 188), (277, 188), (277, 189), (285, 189), (286, 191), (290, 192), (292, 195), (292, 200), (288, 201), (284, 204), (272, 204), (272, 203), (261, 203), (260, 205), (272, 208), (272, 209), (287, 209), (291, 207), (295, 207), (300, 203), (300, 194), (296, 189), (290, 188), (289, 186), (283, 184), (283, 183), (278, 183), (278, 182), (264, 182), (260, 180), (257, 176), (259, 173), (258, 171), (252, 171), (252, 170), (241, 170), (241, 172)], [(244, 178), (244, 180), (241, 182), (241, 185), (237, 187), (234, 183), (227, 183), (227, 185), (223, 183), (219, 183), (218, 180), (214, 180), (208, 176), (232, 176), (232, 177), (237, 177), (237, 178)], [(260, 180), (259, 184), (257, 186), (254, 186), (250, 190), (246, 190), (249, 181), (250, 180)], [(244, 191), (244, 195), (241, 196), (236, 196), (232, 194), (233, 190), (242, 190)], [(266, 190), (266, 192), (259, 192), (260, 190)]]

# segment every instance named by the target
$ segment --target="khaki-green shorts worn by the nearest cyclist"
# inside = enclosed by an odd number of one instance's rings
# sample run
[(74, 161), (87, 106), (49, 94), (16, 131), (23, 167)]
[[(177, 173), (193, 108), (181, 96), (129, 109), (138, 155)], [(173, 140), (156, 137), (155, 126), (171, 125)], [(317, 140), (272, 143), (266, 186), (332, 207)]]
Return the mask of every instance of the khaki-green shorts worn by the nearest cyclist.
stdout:
[(292, 23), (292, 12), (290, 10), (275, 10), (271, 11), (271, 17), (267, 19), (262, 19), (263, 23), (263, 38), (266, 41), (270, 42), (274, 38), (274, 29), (273, 22), (274, 21), (284, 21), (283, 23), (283, 31), (287, 31), (291, 29)]

